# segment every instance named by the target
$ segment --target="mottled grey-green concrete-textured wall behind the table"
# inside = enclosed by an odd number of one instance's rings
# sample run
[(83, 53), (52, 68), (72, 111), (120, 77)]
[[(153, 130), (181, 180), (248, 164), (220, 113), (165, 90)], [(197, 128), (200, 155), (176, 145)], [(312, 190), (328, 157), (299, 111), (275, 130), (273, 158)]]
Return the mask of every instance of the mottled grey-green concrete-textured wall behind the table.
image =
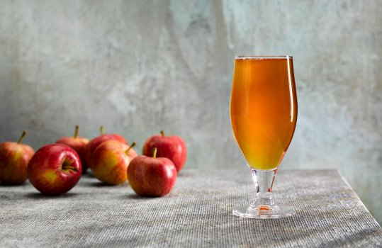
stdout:
[(281, 169), (339, 169), (382, 222), (381, 1), (0, 5), (1, 141), (27, 129), (37, 149), (103, 124), (142, 145), (163, 128), (186, 140), (186, 167), (245, 168), (233, 58), (293, 55), (298, 125)]

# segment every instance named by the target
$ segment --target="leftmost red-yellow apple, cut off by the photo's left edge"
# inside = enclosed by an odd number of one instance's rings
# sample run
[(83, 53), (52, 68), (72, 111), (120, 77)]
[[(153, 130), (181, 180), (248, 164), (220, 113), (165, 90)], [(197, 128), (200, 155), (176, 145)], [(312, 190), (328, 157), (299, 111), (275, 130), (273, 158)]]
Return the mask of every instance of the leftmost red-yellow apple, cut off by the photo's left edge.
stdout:
[(0, 143), (0, 181), (2, 184), (23, 184), (27, 179), (26, 169), (35, 151), (29, 145), (21, 144), (26, 131), (18, 142)]

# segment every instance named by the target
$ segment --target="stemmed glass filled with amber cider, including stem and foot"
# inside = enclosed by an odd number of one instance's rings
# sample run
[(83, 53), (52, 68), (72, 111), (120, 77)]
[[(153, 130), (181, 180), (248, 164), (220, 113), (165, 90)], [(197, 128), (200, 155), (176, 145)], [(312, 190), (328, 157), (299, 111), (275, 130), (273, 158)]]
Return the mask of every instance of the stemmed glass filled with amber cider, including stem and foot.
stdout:
[(274, 203), (272, 186), (297, 120), (292, 56), (237, 56), (230, 117), (256, 188), (254, 203), (233, 210), (244, 218), (283, 218), (291, 207)]

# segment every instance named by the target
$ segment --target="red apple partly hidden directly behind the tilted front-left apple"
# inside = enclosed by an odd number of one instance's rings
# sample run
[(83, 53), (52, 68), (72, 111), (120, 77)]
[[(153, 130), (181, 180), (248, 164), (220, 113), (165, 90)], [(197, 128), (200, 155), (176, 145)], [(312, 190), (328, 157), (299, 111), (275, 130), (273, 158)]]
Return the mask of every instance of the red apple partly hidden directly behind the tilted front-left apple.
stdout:
[(69, 147), (72, 147), (73, 150), (77, 152), (79, 159), (81, 159), (82, 174), (85, 174), (86, 170), (88, 169), (85, 152), (86, 152), (86, 145), (89, 143), (89, 140), (86, 139), (85, 137), (79, 137), (78, 130), (79, 130), (79, 126), (76, 125), (76, 130), (74, 131), (73, 137), (60, 137), (59, 140), (56, 140), (56, 143), (64, 144)]

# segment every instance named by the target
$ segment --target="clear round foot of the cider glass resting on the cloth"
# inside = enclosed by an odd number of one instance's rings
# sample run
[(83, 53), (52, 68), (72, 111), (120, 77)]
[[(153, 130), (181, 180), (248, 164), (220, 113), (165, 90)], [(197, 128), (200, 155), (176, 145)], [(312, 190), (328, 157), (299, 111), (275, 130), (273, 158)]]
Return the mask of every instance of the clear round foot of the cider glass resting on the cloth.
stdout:
[(232, 211), (233, 215), (252, 219), (279, 219), (292, 216), (296, 211), (291, 207), (277, 205), (252, 205), (240, 207)]

